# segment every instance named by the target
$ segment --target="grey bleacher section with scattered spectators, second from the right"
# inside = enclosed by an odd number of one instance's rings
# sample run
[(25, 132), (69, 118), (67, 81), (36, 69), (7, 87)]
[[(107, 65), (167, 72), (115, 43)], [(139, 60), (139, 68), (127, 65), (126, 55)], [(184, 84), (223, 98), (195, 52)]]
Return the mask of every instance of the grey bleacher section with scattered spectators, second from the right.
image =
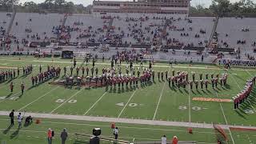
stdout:
[(180, 46), (206, 46), (214, 26), (214, 18), (176, 18), (170, 19), (163, 44)]

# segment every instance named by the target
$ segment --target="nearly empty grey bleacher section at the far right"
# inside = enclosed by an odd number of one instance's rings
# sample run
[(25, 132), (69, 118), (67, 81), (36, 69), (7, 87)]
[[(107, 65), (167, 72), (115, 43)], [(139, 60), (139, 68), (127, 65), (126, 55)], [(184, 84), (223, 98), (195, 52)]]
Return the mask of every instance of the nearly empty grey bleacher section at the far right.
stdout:
[(256, 42), (255, 23), (256, 18), (219, 18), (218, 45), (252, 52)]

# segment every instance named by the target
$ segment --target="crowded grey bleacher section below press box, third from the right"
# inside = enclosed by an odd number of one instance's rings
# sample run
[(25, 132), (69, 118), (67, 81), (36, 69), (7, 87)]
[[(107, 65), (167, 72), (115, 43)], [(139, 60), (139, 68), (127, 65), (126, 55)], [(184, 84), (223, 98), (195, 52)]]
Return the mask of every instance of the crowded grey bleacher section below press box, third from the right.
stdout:
[(164, 19), (156, 18), (114, 18), (108, 38), (112, 43), (146, 44), (158, 42)]

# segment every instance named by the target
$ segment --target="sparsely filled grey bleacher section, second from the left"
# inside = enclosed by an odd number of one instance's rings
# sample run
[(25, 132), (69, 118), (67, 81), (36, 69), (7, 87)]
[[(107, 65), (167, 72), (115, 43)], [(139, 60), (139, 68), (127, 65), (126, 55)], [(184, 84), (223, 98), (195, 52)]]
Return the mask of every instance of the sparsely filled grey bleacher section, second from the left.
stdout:
[(53, 28), (61, 24), (62, 18), (62, 14), (17, 13), (10, 34), (20, 41), (50, 41), (57, 37)]

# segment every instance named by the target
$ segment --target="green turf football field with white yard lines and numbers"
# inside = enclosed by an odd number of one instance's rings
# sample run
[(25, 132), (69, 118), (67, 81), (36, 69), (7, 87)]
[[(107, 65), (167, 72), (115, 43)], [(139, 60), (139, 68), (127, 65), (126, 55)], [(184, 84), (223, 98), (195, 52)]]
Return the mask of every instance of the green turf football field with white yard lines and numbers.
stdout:
[[(223, 98), (231, 99), (234, 95), (238, 94), (240, 90), (245, 86), (246, 80), (252, 78), (256, 74), (254, 69), (232, 69), (223, 70), (222, 67), (214, 65), (202, 65), (194, 64), (189, 66), (188, 64), (178, 64), (169, 66), (167, 63), (154, 63), (154, 71), (169, 71), (169, 75), (172, 70), (175, 71), (187, 71), (192, 78), (191, 73), (196, 73), (196, 79), (199, 79), (199, 74), (222, 74), (228, 73), (227, 86), (221, 87), (218, 85), (218, 89), (214, 90), (211, 85), (208, 86), (208, 90), (190, 90), (189, 86), (186, 88), (176, 88), (168, 86), (168, 82), (158, 80), (146, 86), (128, 86), (123, 89), (109, 89), (102, 88), (86, 88), (73, 86), (65, 88), (64, 86), (54, 86), (44, 82), (38, 86), (32, 86), (30, 77), (38, 74), (38, 66), (42, 65), (43, 70), (46, 70), (46, 66), (72, 66), (73, 62), (70, 59), (54, 58), (32, 58), (32, 57), (4, 57), (0, 58), (0, 71), (9, 70), (10, 67), (22, 67), (32, 64), (34, 66), (33, 74), (14, 78), (14, 93), (10, 94), (9, 84), (10, 81), (2, 82), (0, 84), (0, 110), (10, 111), (12, 109), (16, 111), (45, 113), (45, 114), (66, 114), (66, 115), (87, 115), (87, 116), (101, 116), (111, 118), (134, 118), (134, 119), (147, 119), (147, 120), (162, 120), (162, 121), (175, 121), (175, 122), (198, 122), (198, 123), (216, 123), (223, 125), (241, 125), (241, 126), (256, 126), (256, 90), (250, 96), (250, 101), (245, 102), (240, 106), (240, 109), (233, 110), (233, 102), (199, 102), (194, 101), (192, 98)], [(122, 70), (125, 70), (126, 63), (123, 63)], [(135, 64), (134, 64), (135, 65)], [(148, 63), (143, 64), (148, 67)], [(78, 60), (78, 66), (85, 66), (86, 64), (82, 60)], [(91, 67), (91, 62), (88, 65)], [(110, 62), (98, 60), (96, 62), (101, 73), (102, 67), (110, 67)], [(138, 66), (135, 66), (138, 67)], [(67, 70), (69, 73), (69, 69)], [(63, 73), (63, 70), (62, 70)], [(80, 71), (80, 74), (82, 72)], [(22, 74), (22, 72), (21, 72)], [(62, 77), (63, 74), (61, 74)], [(157, 75), (157, 74), (156, 74)], [(203, 78), (205, 78), (203, 76)], [(55, 78), (56, 80), (56, 78)], [(54, 81), (51, 79), (49, 82)], [(20, 83), (24, 82), (26, 86), (25, 93), (20, 94)], [(4, 119), (3, 117), (1, 117)], [(68, 120), (46, 120), (50, 122), (71, 122)], [(6, 130), (6, 121), (2, 120), (0, 126), (2, 131)], [(83, 123), (83, 122), (74, 122)], [(104, 125), (103, 135), (110, 135), (109, 123), (102, 122), (86, 122), (90, 124)], [(121, 125), (121, 124), (120, 124)], [(125, 124), (122, 124), (126, 126)], [(127, 124), (127, 126), (136, 126)], [(67, 125), (56, 123), (43, 122), (40, 125), (32, 125), (26, 128), (22, 128), (12, 138), (16, 130), (12, 128), (7, 134), (2, 134), (2, 139), (7, 143), (20, 143), (25, 141), (31, 141), (34, 143), (45, 143), (44, 134), (49, 127), (54, 127), (57, 130), (61, 130), (62, 127), (67, 127), (71, 133), (76, 131), (90, 133), (94, 126), (80, 125)], [(79, 128), (82, 128), (81, 130)], [(154, 130), (154, 126), (136, 126), (136, 127), (149, 127), (150, 130), (130, 130), (125, 128), (122, 131), (122, 136), (126, 138), (135, 138), (135, 141), (147, 141), (152, 139), (159, 139), (162, 134), (178, 135), (182, 140), (194, 140), (198, 142), (214, 143), (216, 140), (214, 130), (198, 129), (198, 131), (209, 132), (206, 134), (194, 133), (193, 135), (186, 134), (185, 127), (166, 127), (155, 126), (155, 129), (168, 129), (166, 130)], [(106, 130), (105, 130), (106, 129)], [(152, 129), (152, 130), (151, 130)], [(172, 130), (174, 129), (174, 130)], [(175, 131), (176, 130), (176, 131)], [(182, 131), (179, 131), (182, 130)], [(38, 131), (38, 132), (33, 132)], [(213, 134), (211, 134), (213, 133)], [(230, 131), (226, 132), (230, 135)], [(255, 135), (253, 133), (240, 134), (238, 131), (231, 131), (235, 143), (253, 143), (255, 142)], [(242, 136), (248, 135), (248, 138), (241, 140)], [(30, 137), (31, 136), (31, 137)], [(37, 138), (38, 137), (38, 138)], [(138, 137), (138, 139), (137, 139)], [(0, 139), (1, 139), (0, 138)], [(71, 137), (70, 137), (71, 138)], [(126, 139), (125, 138), (125, 139)], [(141, 139), (139, 139), (141, 138)], [(148, 138), (148, 139), (143, 139)], [(231, 138), (230, 138), (231, 139)], [(247, 142), (248, 140), (248, 142)], [(56, 141), (59, 141), (56, 138)], [(129, 139), (129, 141), (131, 141)], [(74, 137), (69, 141), (74, 142)], [(232, 143), (232, 141), (230, 141)]]

